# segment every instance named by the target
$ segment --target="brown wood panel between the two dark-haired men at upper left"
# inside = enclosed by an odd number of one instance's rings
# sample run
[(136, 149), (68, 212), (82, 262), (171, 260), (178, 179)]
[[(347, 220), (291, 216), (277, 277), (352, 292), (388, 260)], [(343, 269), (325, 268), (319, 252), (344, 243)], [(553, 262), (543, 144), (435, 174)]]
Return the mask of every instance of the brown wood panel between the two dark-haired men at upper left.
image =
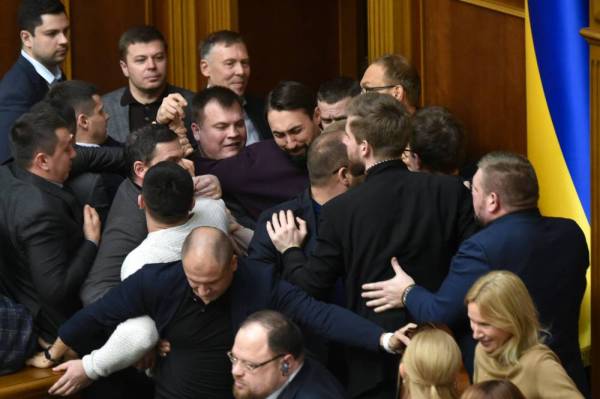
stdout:
[(71, 0), (73, 78), (93, 82), (101, 93), (125, 85), (119, 67), (119, 37), (144, 22), (144, 0)]

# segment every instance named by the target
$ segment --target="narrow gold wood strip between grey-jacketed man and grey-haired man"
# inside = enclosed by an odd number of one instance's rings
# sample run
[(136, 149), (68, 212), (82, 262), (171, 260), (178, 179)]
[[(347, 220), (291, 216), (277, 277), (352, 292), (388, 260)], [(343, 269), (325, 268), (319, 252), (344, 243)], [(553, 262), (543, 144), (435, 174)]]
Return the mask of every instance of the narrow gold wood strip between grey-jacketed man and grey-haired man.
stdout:
[(167, 0), (170, 48), (168, 74), (171, 84), (196, 90), (196, 2)]

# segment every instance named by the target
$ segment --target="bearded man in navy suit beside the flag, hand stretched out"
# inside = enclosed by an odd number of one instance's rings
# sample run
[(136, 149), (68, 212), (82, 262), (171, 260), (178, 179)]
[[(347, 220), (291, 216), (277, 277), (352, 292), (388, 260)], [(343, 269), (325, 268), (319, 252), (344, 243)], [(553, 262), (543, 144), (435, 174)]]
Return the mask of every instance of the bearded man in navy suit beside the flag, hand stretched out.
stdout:
[(473, 177), (473, 208), (485, 226), (463, 242), (452, 258), (448, 276), (431, 290), (415, 285), (394, 262), (396, 276), (365, 285), (368, 306), (384, 311), (405, 306), (418, 322), (452, 326), (463, 336), (462, 347), (472, 363), (471, 338), (464, 299), (471, 285), (490, 270), (510, 270), (531, 293), (548, 328), (548, 345), (584, 394), (588, 392), (579, 350), (579, 308), (586, 287), (588, 247), (579, 226), (570, 219), (540, 215), (538, 182), (531, 163), (510, 153), (490, 153), (479, 161)]

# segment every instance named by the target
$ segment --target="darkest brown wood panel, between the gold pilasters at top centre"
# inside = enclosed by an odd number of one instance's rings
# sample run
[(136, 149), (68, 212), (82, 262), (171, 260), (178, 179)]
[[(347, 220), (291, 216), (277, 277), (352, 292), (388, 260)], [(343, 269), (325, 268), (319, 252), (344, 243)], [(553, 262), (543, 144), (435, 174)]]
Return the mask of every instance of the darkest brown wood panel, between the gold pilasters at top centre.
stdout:
[(278, 81), (313, 89), (339, 74), (337, 0), (239, 0), (239, 31), (252, 62), (248, 91), (266, 94)]

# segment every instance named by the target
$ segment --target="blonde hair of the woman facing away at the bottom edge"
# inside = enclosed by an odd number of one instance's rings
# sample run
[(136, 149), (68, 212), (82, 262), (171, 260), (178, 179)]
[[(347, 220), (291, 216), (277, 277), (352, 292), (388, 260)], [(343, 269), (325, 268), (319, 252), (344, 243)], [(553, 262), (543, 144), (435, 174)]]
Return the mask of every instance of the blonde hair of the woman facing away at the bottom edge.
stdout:
[(447, 332), (433, 328), (416, 334), (402, 357), (403, 389), (411, 399), (458, 399), (460, 349)]

